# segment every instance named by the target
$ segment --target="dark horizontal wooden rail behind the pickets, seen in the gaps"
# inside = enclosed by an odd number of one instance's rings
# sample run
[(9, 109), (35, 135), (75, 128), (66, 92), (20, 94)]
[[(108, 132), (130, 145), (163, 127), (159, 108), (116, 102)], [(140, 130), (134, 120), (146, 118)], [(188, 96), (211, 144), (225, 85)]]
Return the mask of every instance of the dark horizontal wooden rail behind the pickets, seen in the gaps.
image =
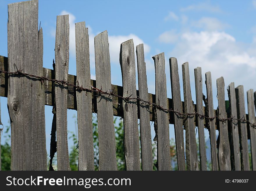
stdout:
[[(5, 56), (0, 56), (0, 70), (2, 71), (8, 71), (8, 58)], [(7, 97), (8, 92), (8, 74), (1, 73), (1, 96)], [(54, 80), (54, 70), (49, 68), (43, 68), (43, 77), (48, 78), (50, 80)], [(77, 110), (77, 100), (76, 100), (76, 88), (74, 88), (71, 85), (76, 85), (77, 76), (68, 74), (67, 76), (67, 83), (70, 85), (67, 86), (67, 109)], [(54, 91), (52, 91), (52, 82), (45, 80), (44, 82), (45, 87), (45, 105), (47, 106), (54, 106), (54, 96), (52, 94)], [(91, 86), (96, 87), (96, 80), (91, 79)], [(113, 85), (111, 84), (112, 92), (114, 94), (117, 94), (118, 96), (123, 96), (123, 88), (119, 85)], [(93, 88), (91, 88), (93, 90)], [(139, 95), (139, 92), (137, 90), (137, 96)], [(97, 113), (97, 97), (96, 94), (92, 94), (92, 113)], [(148, 101), (150, 103), (155, 103), (155, 94), (148, 93)], [(228, 101), (226, 101), (228, 102)], [(123, 110), (122, 110), (122, 98), (119, 97), (112, 97), (112, 103), (113, 103), (113, 115), (118, 117), (123, 117)], [(167, 108), (172, 109), (173, 107), (173, 101), (172, 98), (167, 98)], [(182, 101), (181, 105), (181, 111), (184, 111), (184, 101)], [(194, 110), (197, 112), (196, 104), (193, 104)], [(227, 110), (227, 108), (226, 108)], [(152, 113), (152, 105), (149, 105), (150, 113), (150, 121), (154, 122), (154, 116)], [(205, 113), (205, 106), (202, 107), (202, 113)], [(216, 110), (214, 109), (214, 114), (216, 113)], [(140, 112), (138, 110), (138, 119), (140, 119)], [(174, 124), (174, 116), (168, 115), (169, 124)], [(248, 114), (246, 114), (246, 119), (248, 120)], [(204, 125), (205, 125), (205, 119)], [(195, 126), (198, 126), (197, 119), (195, 119)], [(205, 127), (206, 128), (206, 127)], [(217, 125), (215, 125), (215, 128), (217, 129)]]

